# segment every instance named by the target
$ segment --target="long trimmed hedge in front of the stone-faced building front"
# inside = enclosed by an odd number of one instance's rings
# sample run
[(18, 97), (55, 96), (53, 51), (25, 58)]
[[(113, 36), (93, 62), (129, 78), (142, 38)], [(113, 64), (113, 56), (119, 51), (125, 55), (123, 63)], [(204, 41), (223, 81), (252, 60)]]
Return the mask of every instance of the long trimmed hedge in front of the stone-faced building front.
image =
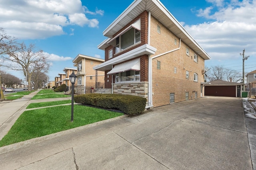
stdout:
[(80, 94), (74, 101), (104, 109), (116, 109), (128, 115), (142, 113), (146, 107), (146, 98), (122, 94)]

